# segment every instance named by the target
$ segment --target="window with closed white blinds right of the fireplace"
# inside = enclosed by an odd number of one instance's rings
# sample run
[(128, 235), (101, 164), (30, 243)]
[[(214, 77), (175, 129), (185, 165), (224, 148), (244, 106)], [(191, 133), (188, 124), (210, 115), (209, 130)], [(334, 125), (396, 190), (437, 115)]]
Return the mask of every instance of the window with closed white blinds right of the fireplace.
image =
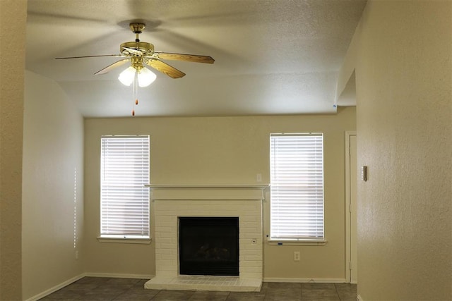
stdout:
[(271, 134), (270, 181), (270, 240), (323, 241), (323, 134)]

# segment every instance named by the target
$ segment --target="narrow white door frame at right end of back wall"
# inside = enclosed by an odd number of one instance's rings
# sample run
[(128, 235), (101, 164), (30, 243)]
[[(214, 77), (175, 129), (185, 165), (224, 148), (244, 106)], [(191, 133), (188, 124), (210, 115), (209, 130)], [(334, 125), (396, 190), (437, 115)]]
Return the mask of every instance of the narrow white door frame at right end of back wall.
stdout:
[[(351, 223), (351, 192), (350, 192), (350, 136), (356, 136), (356, 130), (345, 131), (345, 279), (347, 283), (351, 283), (351, 272), (350, 272), (350, 254), (351, 254), (351, 227), (356, 227), (356, 222), (354, 225)], [(356, 207), (356, 206), (355, 206)]]

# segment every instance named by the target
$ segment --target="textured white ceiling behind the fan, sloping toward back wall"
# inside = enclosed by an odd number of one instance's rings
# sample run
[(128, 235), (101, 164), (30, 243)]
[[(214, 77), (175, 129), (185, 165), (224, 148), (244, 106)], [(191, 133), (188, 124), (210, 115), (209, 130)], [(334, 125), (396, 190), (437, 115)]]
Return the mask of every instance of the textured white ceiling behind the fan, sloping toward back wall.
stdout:
[(365, 0), (29, 0), (26, 68), (59, 82), (86, 117), (131, 116), (124, 66), (95, 72), (140, 39), (155, 51), (212, 56), (167, 61), (186, 73), (140, 88), (136, 116), (334, 113), (338, 70)]

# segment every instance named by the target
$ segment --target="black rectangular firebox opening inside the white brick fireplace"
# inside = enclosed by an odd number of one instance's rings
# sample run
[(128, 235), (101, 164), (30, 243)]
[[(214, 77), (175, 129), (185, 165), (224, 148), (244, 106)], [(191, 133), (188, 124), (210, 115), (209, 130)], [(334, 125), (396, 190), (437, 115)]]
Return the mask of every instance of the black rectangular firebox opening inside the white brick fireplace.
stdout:
[(239, 218), (179, 217), (179, 274), (239, 276)]

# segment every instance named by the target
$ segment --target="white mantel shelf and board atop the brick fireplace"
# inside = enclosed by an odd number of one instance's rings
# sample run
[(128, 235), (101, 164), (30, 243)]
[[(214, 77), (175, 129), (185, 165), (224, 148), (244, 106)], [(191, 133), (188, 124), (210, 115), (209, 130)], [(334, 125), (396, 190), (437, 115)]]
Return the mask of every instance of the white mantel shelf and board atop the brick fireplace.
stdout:
[(145, 185), (151, 200), (263, 200), (269, 185)]

